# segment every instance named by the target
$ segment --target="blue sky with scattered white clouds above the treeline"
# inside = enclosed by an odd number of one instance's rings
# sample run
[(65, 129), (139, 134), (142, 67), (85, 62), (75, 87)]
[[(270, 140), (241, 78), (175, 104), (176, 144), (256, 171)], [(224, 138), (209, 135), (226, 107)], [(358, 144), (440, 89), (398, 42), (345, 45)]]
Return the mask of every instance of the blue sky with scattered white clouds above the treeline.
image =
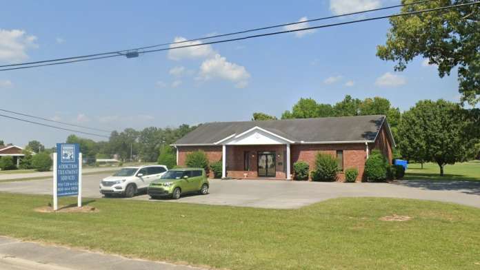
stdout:
[[(5, 1), (0, 64), (123, 50), (396, 3)], [(375, 56), (388, 26), (387, 20), (372, 21), (136, 59), (0, 72), (0, 108), (119, 130), (246, 121), (252, 112), (280, 116), (301, 97), (336, 103), (346, 94), (383, 96), (401, 110), (425, 98), (458, 101), (456, 73), (440, 79), (423, 59), (397, 73), (393, 63)], [(0, 126), (0, 139), (17, 145), (36, 139), (50, 147), (70, 134), (5, 118)]]

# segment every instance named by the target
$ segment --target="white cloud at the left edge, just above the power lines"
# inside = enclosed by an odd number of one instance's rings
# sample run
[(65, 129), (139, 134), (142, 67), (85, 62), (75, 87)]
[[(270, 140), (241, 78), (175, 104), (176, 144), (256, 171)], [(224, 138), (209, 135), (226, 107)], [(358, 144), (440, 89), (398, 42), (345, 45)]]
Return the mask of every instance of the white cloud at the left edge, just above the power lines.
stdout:
[(28, 36), (23, 30), (0, 29), (0, 61), (10, 63), (28, 59), (27, 50), (38, 48), (37, 37)]

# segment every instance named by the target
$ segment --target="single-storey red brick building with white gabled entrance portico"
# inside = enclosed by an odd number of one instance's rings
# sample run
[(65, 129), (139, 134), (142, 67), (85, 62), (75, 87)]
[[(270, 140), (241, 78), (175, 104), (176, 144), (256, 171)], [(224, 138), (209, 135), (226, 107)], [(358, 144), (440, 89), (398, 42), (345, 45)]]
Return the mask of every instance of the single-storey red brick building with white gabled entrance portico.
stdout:
[(223, 178), (290, 179), (293, 163), (303, 160), (313, 170), (316, 154), (324, 152), (339, 160), (339, 180), (355, 167), (357, 181), (372, 149), (391, 162), (394, 145), (383, 115), (206, 123), (173, 144), (177, 165), (203, 150), (210, 162), (222, 160)]

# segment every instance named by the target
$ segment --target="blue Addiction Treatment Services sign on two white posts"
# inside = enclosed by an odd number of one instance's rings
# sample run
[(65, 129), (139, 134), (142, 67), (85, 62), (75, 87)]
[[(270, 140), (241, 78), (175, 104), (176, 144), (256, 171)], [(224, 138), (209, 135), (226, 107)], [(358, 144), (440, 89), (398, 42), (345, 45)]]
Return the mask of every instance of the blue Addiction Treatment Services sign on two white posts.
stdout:
[(53, 209), (57, 211), (58, 197), (78, 196), (81, 207), (81, 163), (78, 143), (57, 143), (53, 155)]

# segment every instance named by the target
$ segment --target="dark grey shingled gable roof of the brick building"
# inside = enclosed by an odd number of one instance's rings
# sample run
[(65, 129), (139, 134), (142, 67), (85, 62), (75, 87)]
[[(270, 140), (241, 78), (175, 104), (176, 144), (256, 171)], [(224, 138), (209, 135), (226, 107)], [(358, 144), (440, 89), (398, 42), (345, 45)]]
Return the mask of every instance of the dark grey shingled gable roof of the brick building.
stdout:
[[(255, 127), (294, 143), (370, 143), (377, 138), (383, 123), (386, 123), (384, 115), (213, 122), (200, 125), (173, 145), (221, 145), (228, 137)], [(386, 127), (394, 145), (388, 123)]]

